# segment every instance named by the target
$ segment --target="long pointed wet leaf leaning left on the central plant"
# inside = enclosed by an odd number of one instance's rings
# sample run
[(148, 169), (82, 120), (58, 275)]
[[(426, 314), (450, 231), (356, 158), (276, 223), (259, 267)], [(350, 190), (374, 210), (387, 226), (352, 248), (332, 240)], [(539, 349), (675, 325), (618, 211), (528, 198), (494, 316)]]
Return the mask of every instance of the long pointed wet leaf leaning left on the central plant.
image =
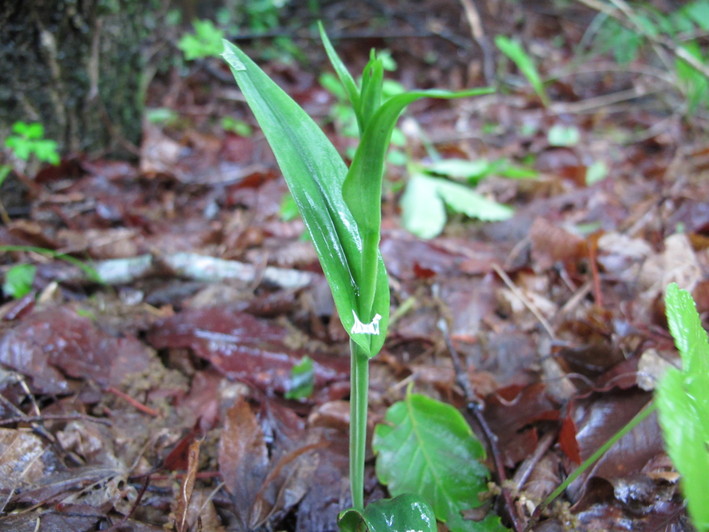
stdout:
[[(300, 209), (345, 330), (374, 356), (389, 320), (389, 285), (378, 249), (368, 264), (368, 290), (361, 305), (363, 236), (342, 195), (347, 167), (332, 143), (305, 111), (246, 54), (224, 41), (223, 57), (266, 136)], [(379, 201), (381, 192), (376, 199)], [(378, 210), (377, 203), (376, 209)], [(372, 280), (372, 271), (373, 280)], [(374, 283), (374, 289), (371, 284)], [(377, 315), (379, 317), (377, 317)]]

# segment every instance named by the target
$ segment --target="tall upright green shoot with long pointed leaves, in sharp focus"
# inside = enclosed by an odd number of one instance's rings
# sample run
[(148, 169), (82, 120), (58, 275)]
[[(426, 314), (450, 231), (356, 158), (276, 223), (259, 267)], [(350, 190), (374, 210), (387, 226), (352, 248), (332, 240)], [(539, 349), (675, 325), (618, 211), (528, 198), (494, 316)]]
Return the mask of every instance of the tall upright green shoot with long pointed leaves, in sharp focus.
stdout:
[(490, 91), (413, 91), (383, 101), (381, 58), (372, 52), (357, 83), (322, 27), (320, 33), (354, 109), (359, 131), (360, 142), (349, 168), (315, 122), (246, 54), (225, 41), (223, 57), (276, 156), (317, 251), (340, 321), (350, 336), (354, 508), (341, 515), (341, 527), (389, 530), (381, 528), (381, 523), (386, 522), (385, 513), (394, 512), (405, 521), (406, 529), (432, 531), (436, 525), (423, 500), (412, 504), (411, 496), (405, 496), (364, 507), (369, 360), (381, 349), (389, 324), (389, 283), (379, 251), (382, 180), (392, 131), (408, 104), (424, 97), (457, 98)]

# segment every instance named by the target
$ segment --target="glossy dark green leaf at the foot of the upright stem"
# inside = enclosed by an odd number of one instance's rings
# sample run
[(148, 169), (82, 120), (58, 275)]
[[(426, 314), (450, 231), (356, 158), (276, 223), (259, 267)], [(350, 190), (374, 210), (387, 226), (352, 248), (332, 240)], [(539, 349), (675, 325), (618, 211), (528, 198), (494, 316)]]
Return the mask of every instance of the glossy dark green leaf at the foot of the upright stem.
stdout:
[(436, 516), (431, 507), (415, 495), (399, 495), (367, 505), (360, 512), (354, 508), (338, 519), (341, 532), (436, 532)]

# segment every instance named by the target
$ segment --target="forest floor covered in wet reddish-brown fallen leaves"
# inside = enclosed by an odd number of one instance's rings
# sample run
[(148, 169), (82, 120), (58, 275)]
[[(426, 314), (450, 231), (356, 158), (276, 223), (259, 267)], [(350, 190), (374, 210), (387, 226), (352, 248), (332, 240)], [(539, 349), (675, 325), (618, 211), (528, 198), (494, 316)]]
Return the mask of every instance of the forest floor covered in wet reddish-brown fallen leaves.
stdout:
[[(409, 384), (459, 408), (487, 446), (501, 487), (491, 508), (511, 528), (691, 529), (654, 415), (532, 514), (677, 364), (667, 284), (709, 311), (704, 118), (682, 114), (651, 54), (622, 67), (577, 48), (590, 9), (479, 2), (481, 36), (466, 4), (322, 3), (353, 72), (375, 47), (407, 88), (498, 86), (417, 103), (401, 123), (408, 166), (389, 167), (381, 244), (394, 319), (372, 361), (371, 424)], [(296, 11), (301, 29), (283, 34), (300, 60), (279, 59), (271, 39), (238, 44), (344, 152), (352, 141), (319, 83), (330, 68), (303, 29), (313, 15)], [(537, 58), (548, 105), (494, 48), (497, 34)], [(157, 76), (148, 103), (173, 113), (146, 121), (137, 163), (44, 168), (0, 226), (3, 244), (57, 254), (0, 255), (5, 273), (37, 267), (29, 294), (0, 300), (0, 529), (336, 530), (350, 504), (348, 344), (304, 226), (284, 215), (285, 183), (219, 59)], [(225, 131), (225, 116), (253, 132)], [(451, 212), (421, 239), (399, 201), (436, 156), (534, 177), (492, 171), (475, 190), (511, 218)], [(305, 355), (314, 393), (286, 399)], [(366, 489), (386, 496), (373, 460)]]

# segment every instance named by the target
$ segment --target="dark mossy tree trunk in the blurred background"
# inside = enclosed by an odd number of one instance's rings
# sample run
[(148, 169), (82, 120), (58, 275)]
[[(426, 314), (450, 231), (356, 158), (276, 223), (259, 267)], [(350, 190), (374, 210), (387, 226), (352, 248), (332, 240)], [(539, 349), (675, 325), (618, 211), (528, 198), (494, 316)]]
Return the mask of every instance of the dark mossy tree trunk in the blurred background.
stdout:
[(0, 2), (0, 138), (40, 122), (62, 153), (131, 154), (143, 111), (145, 2)]

